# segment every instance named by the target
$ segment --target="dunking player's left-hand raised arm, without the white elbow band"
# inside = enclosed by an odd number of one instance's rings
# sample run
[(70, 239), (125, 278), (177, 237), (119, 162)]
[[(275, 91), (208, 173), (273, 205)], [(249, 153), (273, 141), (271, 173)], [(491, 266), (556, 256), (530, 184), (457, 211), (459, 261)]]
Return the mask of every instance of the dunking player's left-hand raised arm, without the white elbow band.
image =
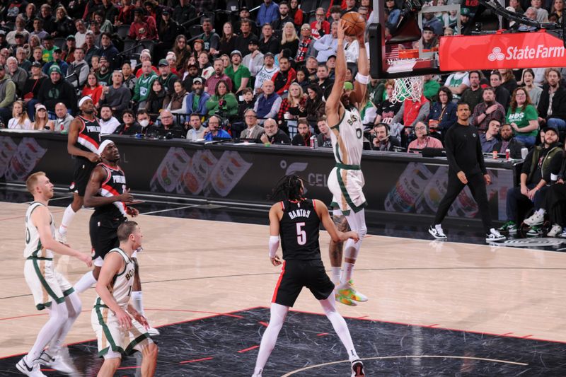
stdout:
[(346, 81), (346, 55), (344, 53), (344, 33), (348, 26), (345, 21), (340, 20), (338, 23), (338, 45), (336, 47), (336, 67), (334, 86), (328, 98), (326, 98), (326, 117), (328, 124), (335, 126), (340, 122), (340, 98), (344, 91), (344, 82)]

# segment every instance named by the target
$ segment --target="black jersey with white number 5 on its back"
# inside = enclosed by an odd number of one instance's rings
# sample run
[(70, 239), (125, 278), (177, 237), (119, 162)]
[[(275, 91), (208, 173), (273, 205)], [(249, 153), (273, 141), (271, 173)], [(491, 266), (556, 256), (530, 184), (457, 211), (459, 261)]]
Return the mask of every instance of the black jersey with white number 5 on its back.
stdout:
[(320, 219), (312, 199), (280, 202), (283, 217), (279, 223), (284, 260), (320, 260), (318, 227)]

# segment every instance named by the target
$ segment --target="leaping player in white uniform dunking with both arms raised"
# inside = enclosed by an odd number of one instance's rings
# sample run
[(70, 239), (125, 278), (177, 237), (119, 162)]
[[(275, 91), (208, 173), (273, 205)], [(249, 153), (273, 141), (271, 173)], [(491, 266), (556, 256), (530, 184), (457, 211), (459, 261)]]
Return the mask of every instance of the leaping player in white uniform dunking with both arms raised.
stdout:
[[(338, 47), (336, 54), (335, 81), (332, 92), (326, 100), (326, 115), (330, 126), (330, 139), (332, 141), (335, 168), (328, 177), (328, 188), (333, 194), (333, 207), (335, 216), (346, 216), (347, 223), (352, 231), (359, 235), (359, 242), (347, 240), (345, 244), (344, 269), (337, 282), (342, 265), (342, 253), (339, 248), (330, 250), (333, 279), (337, 284), (336, 300), (347, 305), (355, 305), (353, 301), (367, 301), (367, 297), (354, 289), (352, 272), (356, 262), (362, 240), (367, 233), (364, 207), (366, 198), (364, 175), (360, 168), (362, 150), (364, 149), (364, 125), (359, 111), (352, 103), (359, 103), (364, 98), (367, 83), (369, 82), (369, 67), (364, 44), (364, 33), (357, 35), (359, 43), (358, 73), (354, 83), (354, 91), (347, 93), (344, 88), (346, 80), (346, 57), (344, 53), (344, 35), (348, 26), (345, 21), (338, 24)], [(348, 108), (345, 107), (348, 105)], [(332, 248), (332, 245), (331, 245)]]

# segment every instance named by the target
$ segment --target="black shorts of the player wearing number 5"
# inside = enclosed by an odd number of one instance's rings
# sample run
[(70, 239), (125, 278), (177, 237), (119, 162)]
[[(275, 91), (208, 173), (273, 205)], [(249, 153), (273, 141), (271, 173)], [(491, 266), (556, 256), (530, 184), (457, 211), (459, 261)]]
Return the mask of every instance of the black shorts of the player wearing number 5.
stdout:
[(324, 270), (322, 260), (286, 260), (273, 292), (273, 303), (293, 306), (301, 289), (306, 286), (317, 300), (332, 294), (334, 284)]

